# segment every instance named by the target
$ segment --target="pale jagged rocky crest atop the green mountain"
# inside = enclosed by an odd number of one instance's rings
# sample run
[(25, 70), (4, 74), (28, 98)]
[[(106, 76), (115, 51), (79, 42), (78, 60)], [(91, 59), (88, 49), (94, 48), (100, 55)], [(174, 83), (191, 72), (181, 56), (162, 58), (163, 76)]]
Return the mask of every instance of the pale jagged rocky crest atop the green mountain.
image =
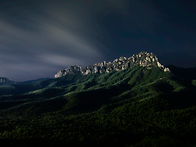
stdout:
[(106, 61), (103, 61), (85, 67), (73, 65), (67, 69), (59, 71), (55, 75), (55, 78), (62, 77), (66, 74), (76, 74), (76, 73), (81, 73), (83, 75), (93, 74), (93, 73), (104, 73), (104, 72), (109, 73), (112, 70), (120, 71), (138, 65), (142, 67), (146, 67), (147, 69), (159, 67), (164, 72), (166, 71), (170, 72), (169, 68), (164, 67), (153, 53), (140, 52), (138, 54), (134, 54), (132, 57), (129, 58), (120, 57), (119, 59), (115, 59), (113, 62), (108, 62), (108, 63), (106, 63)]

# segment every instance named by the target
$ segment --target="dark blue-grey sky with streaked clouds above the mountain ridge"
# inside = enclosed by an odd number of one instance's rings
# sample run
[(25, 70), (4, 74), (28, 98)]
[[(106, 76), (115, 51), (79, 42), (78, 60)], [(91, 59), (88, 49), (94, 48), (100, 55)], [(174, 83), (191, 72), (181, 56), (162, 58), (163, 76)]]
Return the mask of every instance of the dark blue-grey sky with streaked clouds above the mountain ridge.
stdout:
[(0, 77), (54, 78), (152, 52), (163, 65), (196, 67), (193, 0), (1, 0)]

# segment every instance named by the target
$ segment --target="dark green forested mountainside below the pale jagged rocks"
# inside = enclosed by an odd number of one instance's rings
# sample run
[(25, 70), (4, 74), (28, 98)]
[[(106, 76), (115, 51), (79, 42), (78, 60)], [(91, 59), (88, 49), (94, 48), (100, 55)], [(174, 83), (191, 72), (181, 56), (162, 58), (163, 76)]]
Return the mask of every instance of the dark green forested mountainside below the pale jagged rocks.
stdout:
[(170, 70), (136, 65), (1, 85), (0, 139), (20, 146), (196, 147), (196, 76)]

